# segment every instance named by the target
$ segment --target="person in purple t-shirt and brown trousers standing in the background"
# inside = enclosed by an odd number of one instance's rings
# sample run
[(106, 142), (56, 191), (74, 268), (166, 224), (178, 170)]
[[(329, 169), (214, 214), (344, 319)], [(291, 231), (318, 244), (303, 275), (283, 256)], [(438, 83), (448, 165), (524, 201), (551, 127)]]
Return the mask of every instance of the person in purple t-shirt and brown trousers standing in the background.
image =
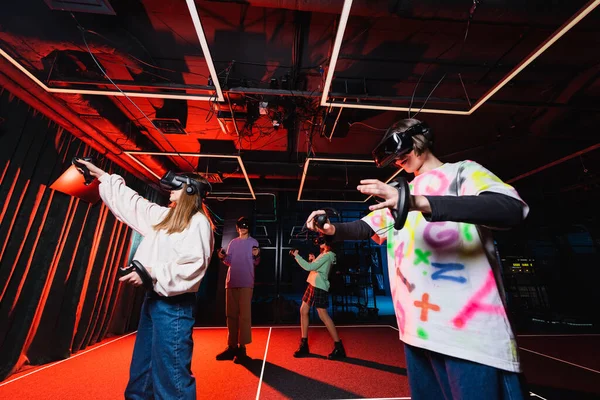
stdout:
[(219, 250), (219, 258), (229, 267), (225, 283), (227, 313), (227, 348), (217, 354), (217, 360), (244, 361), (246, 345), (252, 343), (252, 291), (254, 267), (260, 262), (258, 241), (248, 234), (250, 221), (237, 220), (239, 237), (229, 242), (227, 252)]

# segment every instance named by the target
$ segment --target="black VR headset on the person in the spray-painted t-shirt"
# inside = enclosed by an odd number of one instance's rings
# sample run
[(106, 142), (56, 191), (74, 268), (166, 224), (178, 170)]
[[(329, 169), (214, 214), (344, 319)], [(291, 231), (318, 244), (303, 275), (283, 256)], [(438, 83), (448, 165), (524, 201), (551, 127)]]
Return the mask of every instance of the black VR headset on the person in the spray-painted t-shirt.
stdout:
[(383, 139), (373, 150), (373, 160), (378, 168), (387, 167), (392, 161), (402, 158), (413, 149), (413, 136), (423, 135), (431, 144), (429, 126), (420, 122), (403, 132), (395, 132), (399, 128), (394, 125), (388, 128)]

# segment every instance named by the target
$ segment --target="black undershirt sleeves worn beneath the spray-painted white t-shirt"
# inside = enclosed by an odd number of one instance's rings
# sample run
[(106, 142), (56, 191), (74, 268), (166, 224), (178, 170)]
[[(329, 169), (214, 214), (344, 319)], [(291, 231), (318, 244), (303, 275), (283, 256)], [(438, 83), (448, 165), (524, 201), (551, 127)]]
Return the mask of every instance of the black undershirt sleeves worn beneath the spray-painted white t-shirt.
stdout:
[[(501, 193), (483, 192), (479, 196), (425, 197), (429, 200), (431, 214), (423, 216), (429, 222), (453, 221), (492, 228), (510, 228), (523, 220), (523, 203)], [(334, 242), (365, 240), (375, 234), (369, 224), (362, 220), (334, 225), (335, 235), (331, 237)]]

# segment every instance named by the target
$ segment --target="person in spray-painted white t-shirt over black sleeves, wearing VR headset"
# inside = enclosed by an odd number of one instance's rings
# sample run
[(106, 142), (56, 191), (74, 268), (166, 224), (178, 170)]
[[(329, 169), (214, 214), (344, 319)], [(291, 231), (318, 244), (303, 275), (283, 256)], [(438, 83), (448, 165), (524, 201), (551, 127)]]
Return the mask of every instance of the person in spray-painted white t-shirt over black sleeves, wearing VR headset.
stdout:
[[(490, 230), (519, 224), (528, 206), (473, 161), (442, 163), (424, 123), (401, 120), (374, 150), (378, 166), (414, 173), (410, 212), (394, 230), (398, 192), (377, 180), (358, 189), (384, 201), (359, 221), (325, 224), (332, 240), (387, 240), (388, 269), (413, 399), (521, 399), (520, 364), (506, 316)], [(416, 211), (416, 212), (415, 212)], [(310, 229), (315, 211), (307, 221)], [(516, 396), (516, 397), (515, 397)]]

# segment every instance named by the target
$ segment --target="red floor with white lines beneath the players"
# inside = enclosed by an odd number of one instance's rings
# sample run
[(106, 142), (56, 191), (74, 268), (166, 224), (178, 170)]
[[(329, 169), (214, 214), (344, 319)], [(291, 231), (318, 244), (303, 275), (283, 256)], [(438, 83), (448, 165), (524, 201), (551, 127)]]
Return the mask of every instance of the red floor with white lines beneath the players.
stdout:
[[(391, 327), (340, 327), (348, 352), (329, 361), (327, 331), (311, 328), (310, 358), (295, 359), (298, 328), (254, 328), (247, 365), (218, 362), (224, 328), (194, 330), (192, 370), (199, 399), (408, 399), (404, 353)], [(123, 398), (135, 335), (106, 340), (70, 359), (0, 383), (2, 399)], [(520, 337), (532, 398), (600, 398), (600, 336)], [(265, 352), (265, 350), (267, 350)], [(535, 352), (535, 353), (534, 353)], [(266, 359), (265, 359), (266, 355)]]

